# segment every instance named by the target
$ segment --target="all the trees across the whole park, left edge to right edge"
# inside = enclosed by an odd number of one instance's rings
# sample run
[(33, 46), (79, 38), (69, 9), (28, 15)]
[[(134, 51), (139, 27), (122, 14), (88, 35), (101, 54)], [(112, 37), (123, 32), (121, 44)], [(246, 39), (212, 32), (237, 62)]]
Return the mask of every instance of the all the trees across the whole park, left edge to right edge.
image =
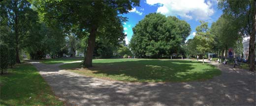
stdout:
[[(250, 70), (254, 71), (256, 1), (220, 0), (223, 15), (209, 28), (201, 21), (196, 35), (186, 41), (190, 25), (174, 16), (151, 13), (132, 28), (129, 48), (125, 45), (122, 14), (139, 0), (2, 0), (0, 1), (1, 67), (20, 63), (20, 53), (40, 59), (46, 53), (60, 57), (84, 52), (83, 65), (92, 67), (93, 56), (107, 58), (135, 55), (170, 58), (215, 52), (223, 55), (250, 35)], [(68, 50), (69, 49), (69, 50)], [(131, 51), (130, 51), (131, 50)], [(241, 49), (240, 49), (241, 51)], [(4, 55), (6, 55), (4, 57)], [(8, 59), (6, 59), (8, 58)], [(2, 68), (1, 68), (2, 69)]]

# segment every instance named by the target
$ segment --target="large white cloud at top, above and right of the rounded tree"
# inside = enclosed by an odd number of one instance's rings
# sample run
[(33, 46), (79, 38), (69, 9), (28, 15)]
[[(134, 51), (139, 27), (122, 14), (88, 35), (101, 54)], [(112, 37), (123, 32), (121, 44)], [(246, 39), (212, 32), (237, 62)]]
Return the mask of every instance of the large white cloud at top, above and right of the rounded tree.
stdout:
[(147, 4), (160, 4), (157, 12), (166, 16), (180, 16), (184, 19), (208, 20), (214, 14), (216, 0), (147, 0)]

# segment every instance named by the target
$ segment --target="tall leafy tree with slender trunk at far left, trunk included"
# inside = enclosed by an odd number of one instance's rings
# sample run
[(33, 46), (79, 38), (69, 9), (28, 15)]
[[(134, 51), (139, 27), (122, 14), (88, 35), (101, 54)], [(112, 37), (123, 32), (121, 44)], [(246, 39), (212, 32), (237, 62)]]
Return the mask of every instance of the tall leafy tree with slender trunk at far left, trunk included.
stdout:
[[(5, 30), (3, 36), (11, 35), (5, 39), (8, 39), (6, 42), (10, 43), (10, 47), (16, 48), (17, 63), (20, 63), (20, 49), (28, 45), (24, 39), (34, 32), (32, 28), (37, 21), (37, 13), (30, 7), (31, 4), (27, 0), (3, 0), (0, 2), (0, 23), (3, 24), (3, 27), (0, 28), (3, 29), (2, 31)], [(6, 30), (10, 32), (6, 32)]]

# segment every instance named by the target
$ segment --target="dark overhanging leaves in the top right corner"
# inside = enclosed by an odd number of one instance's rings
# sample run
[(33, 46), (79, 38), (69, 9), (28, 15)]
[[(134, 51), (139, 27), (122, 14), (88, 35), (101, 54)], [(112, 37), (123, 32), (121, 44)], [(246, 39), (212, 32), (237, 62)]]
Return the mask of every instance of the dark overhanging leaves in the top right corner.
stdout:
[(220, 0), (218, 7), (223, 10), (224, 15), (232, 16), (234, 27), (238, 27), (240, 30), (237, 32), (242, 35), (251, 35), (255, 20), (255, 0)]

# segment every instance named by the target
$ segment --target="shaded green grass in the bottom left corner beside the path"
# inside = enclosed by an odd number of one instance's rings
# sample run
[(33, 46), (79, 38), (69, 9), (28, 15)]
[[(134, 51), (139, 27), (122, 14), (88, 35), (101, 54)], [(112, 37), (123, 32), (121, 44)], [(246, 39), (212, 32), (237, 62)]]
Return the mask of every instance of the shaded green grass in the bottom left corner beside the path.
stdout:
[[(31, 97), (31, 99), (30, 99)], [(0, 76), (0, 106), (62, 106), (31, 64), (18, 64)]]

